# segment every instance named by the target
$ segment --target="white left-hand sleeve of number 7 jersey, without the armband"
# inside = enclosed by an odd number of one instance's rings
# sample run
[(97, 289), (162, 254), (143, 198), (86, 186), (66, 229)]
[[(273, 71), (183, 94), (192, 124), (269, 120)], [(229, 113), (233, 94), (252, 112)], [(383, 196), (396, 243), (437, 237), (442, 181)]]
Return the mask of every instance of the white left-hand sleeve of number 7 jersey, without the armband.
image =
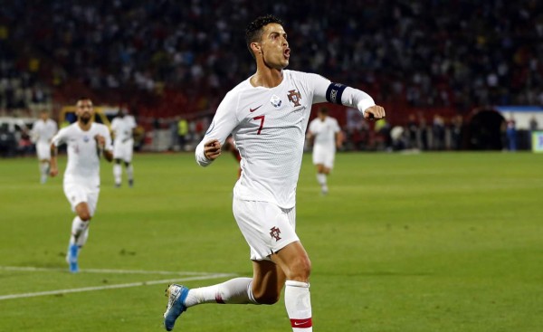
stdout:
[(208, 166), (212, 163), (212, 160), (205, 157), (205, 142), (212, 139), (217, 139), (221, 145), (223, 145), (226, 138), (228, 138), (228, 136), (232, 133), (233, 128), (239, 124), (236, 117), (236, 104), (237, 98), (234, 97), (232, 92), (229, 92), (224, 97), (224, 100), (221, 101), (221, 104), (217, 108), (214, 118), (211, 121), (211, 125), (209, 125), (207, 132), (205, 132), (204, 138), (196, 147), (195, 157), (198, 165)]

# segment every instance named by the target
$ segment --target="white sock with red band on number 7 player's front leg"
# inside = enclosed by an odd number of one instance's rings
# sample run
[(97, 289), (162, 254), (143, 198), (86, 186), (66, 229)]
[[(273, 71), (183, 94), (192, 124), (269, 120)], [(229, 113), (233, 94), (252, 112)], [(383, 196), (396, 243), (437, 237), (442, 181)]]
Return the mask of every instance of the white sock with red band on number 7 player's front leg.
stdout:
[(285, 307), (291, 318), (292, 332), (312, 332), (310, 284), (287, 280), (285, 285)]

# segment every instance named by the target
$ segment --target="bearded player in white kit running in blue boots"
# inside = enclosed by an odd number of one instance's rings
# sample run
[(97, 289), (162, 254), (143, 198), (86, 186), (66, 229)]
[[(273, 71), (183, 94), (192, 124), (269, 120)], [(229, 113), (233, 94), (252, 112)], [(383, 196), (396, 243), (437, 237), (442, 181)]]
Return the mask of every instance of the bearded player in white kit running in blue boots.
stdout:
[(113, 160), (110, 130), (105, 125), (92, 122), (92, 101), (81, 98), (76, 108), (77, 121), (62, 128), (52, 138), (51, 144), (51, 176), (59, 173), (58, 147), (68, 145), (68, 166), (64, 171), (63, 188), (71, 210), (77, 214), (71, 222), (70, 244), (66, 255), (73, 273), (79, 270), (79, 251), (87, 242), (90, 218), (96, 212), (100, 194), (100, 157)]

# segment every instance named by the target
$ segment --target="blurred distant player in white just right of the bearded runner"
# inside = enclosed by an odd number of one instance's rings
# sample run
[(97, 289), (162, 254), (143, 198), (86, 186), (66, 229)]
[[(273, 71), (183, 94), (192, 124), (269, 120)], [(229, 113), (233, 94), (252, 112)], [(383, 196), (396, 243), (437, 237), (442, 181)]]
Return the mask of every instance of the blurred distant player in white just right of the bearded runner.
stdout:
[(124, 163), (127, 168), (129, 186), (134, 185), (134, 166), (132, 166), (132, 154), (134, 151), (133, 131), (136, 128), (136, 120), (129, 114), (125, 114), (119, 109), (117, 117), (111, 122), (111, 132), (113, 134), (113, 176), (115, 177), (115, 186), (120, 187), (122, 182), (122, 166)]

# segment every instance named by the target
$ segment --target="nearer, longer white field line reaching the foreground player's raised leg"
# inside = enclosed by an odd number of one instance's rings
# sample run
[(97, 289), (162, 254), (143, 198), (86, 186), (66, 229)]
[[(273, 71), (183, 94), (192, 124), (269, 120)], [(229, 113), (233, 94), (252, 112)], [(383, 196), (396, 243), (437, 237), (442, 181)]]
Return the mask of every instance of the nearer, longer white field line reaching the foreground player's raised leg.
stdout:
[(157, 285), (160, 283), (166, 284), (166, 283), (171, 283), (171, 282), (181, 282), (181, 281), (190, 281), (190, 280), (207, 280), (207, 279), (224, 278), (224, 277), (231, 277), (231, 276), (233, 276), (233, 274), (215, 273), (215, 274), (206, 274), (203, 276), (188, 277), (188, 278), (182, 278), (182, 279), (177, 278), (177, 279), (166, 279), (166, 280), (150, 280), (150, 281), (121, 283), (121, 284), (107, 285), (107, 286), (84, 287), (81, 289), (57, 289), (57, 290), (48, 290), (48, 291), (38, 291), (34, 293), (2, 295), (0, 296), (0, 300), (34, 298), (34, 297), (39, 297), (39, 296), (59, 295), (59, 294), (68, 294), (68, 293), (81, 293), (83, 291), (94, 291), (94, 290), (102, 290), (102, 289), (127, 289), (130, 287)]

